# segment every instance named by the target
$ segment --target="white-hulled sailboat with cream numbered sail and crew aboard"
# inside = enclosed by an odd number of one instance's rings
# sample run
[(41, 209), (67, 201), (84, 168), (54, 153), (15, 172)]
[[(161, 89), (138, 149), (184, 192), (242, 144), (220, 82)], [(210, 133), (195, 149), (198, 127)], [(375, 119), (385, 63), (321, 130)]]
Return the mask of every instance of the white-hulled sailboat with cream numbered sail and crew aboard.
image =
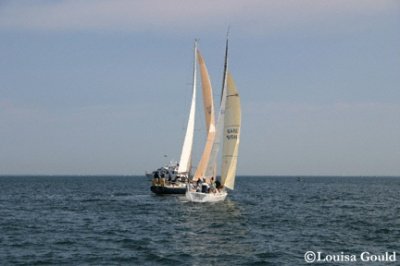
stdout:
[[(222, 98), (216, 129), (214, 129), (214, 142), (211, 151), (208, 152), (208, 139), (204, 148), (203, 156), (207, 153), (207, 166), (205, 173), (201, 176), (196, 175), (194, 184), (188, 184), (185, 197), (192, 202), (217, 202), (223, 201), (228, 195), (227, 189), (234, 189), (237, 158), (240, 143), (240, 127), (241, 127), (241, 107), (240, 97), (233, 81), (232, 75), (228, 71), (228, 39), (226, 41), (225, 50), (225, 68), (222, 87)], [(210, 126), (208, 134), (212, 133), (213, 128)], [(214, 177), (216, 172), (216, 155), (220, 146), (220, 138), (222, 142), (222, 166), (221, 180)], [(203, 157), (202, 157), (203, 159)], [(210, 177), (211, 175), (211, 177)], [(211, 183), (209, 187), (208, 183)]]

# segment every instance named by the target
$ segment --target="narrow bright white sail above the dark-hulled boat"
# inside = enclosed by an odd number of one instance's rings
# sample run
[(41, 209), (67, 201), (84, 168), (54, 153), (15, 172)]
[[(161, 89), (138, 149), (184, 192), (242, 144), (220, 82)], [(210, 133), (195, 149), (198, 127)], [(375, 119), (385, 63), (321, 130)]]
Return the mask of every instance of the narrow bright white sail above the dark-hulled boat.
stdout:
[(185, 140), (183, 141), (181, 158), (179, 160), (179, 167), (178, 167), (178, 174), (180, 175), (188, 175), (191, 168), (193, 137), (194, 137), (194, 121), (195, 121), (195, 111), (196, 111), (196, 86), (197, 86), (196, 62), (197, 62), (197, 41), (195, 41), (194, 43), (192, 102), (190, 106), (189, 120), (186, 128)]

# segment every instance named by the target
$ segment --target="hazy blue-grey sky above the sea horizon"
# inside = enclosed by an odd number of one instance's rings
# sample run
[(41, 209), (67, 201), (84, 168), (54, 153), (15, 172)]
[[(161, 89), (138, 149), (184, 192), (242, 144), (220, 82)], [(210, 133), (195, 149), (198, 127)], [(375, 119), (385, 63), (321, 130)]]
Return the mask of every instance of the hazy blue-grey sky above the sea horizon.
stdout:
[(178, 160), (193, 41), (218, 99), (228, 26), (239, 175), (400, 176), (394, 0), (0, 1), (0, 175), (141, 175)]

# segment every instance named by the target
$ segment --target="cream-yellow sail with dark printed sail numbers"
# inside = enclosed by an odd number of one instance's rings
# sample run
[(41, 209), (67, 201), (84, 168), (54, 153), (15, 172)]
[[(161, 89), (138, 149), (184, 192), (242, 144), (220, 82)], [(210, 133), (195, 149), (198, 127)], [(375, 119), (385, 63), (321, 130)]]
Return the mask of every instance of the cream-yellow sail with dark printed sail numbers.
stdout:
[(227, 75), (226, 88), (221, 181), (225, 187), (234, 189), (240, 142), (241, 109), (240, 97), (230, 73)]

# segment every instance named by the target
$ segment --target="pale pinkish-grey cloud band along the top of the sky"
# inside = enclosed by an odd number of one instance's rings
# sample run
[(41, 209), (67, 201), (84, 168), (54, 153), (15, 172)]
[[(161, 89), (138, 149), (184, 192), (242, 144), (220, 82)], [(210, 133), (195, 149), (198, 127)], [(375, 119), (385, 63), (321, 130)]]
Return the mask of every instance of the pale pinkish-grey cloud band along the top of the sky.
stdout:
[(389, 10), (390, 1), (262, 0), (64, 0), (8, 1), (0, 5), (0, 28), (25, 30), (267, 31), (329, 17), (370, 15)]

